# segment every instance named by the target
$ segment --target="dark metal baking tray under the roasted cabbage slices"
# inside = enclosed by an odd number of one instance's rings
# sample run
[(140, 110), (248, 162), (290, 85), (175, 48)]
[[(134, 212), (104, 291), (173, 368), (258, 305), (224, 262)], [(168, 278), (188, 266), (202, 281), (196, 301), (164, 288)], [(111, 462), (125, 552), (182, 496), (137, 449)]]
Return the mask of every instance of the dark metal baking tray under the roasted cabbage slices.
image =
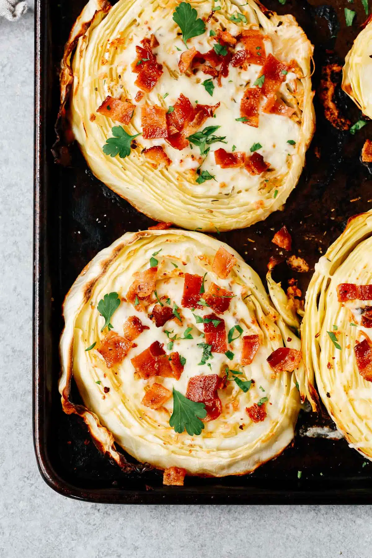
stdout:
[[(62, 412), (57, 390), (62, 300), (100, 249), (127, 230), (146, 229), (154, 224), (96, 180), (76, 146), (70, 167), (56, 165), (52, 157), (59, 108), (59, 63), (84, 2), (36, 1), (33, 434), (42, 477), (65, 496), (94, 502), (371, 502), (370, 463), (349, 449), (345, 440), (299, 435), (306, 425), (329, 424), (326, 413), (316, 416), (301, 411), (293, 444), (253, 474), (223, 479), (187, 477), (184, 487), (165, 487), (162, 474), (156, 470), (124, 474), (95, 448), (81, 419)], [(292, 13), (315, 45), (317, 131), (299, 184), (284, 211), (277, 211), (249, 229), (221, 234), (220, 238), (252, 264), (264, 280), (268, 259), (276, 252), (270, 242), (273, 232), (286, 224), (292, 233), (294, 251), (311, 266), (309, 273), (298, 276), (305, 292), (315, 262), (344, 229), (347, 219), (372, 206), (371, 175), (359, 158), (365, 138), (372, 137), (372, 123), (355, 136), (340, 131), (325, 118), (318, 94), (326, 75), (323, 67), (342, 65), (364, 12), (359, 0), (347, 4), (357, 12), (356, 23), (347, 28), (344, 2), (340, 0), (332, 0), (327, 6), (305, 0), (288, 0), (285, 6), (276, 0), (265, 3), (279, 13)], [(340, 126), (342, 116), (356, 122), (361, 113), (340, 90), (337, 67), (328, 68), (336, 83), (333, 98), (340, 109), (338, 116), (331, 111), (333, 123)], [(292, 275), (285, 263), (276, 270), (277, 278), (283, 282)], [(72, 393), (78, 401), (75, 386)], [(298, 471), (302, 472), (300, 479)]]

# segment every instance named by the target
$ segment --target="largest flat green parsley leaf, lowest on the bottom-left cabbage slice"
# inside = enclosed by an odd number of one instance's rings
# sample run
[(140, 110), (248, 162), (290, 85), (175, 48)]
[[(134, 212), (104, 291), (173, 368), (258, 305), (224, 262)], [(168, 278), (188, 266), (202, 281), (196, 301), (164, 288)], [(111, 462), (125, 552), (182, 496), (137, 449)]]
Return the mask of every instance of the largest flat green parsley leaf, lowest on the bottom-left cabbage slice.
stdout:
[[(182, 4), (181, 4), (182, 5)], [(180, 434), (186, 429), (190, 436), (199, 436), (204, 429), (200, 419), (207, 415), (204, 403), (190, 401), (173, 387), (173, 412), (169, 425)]]

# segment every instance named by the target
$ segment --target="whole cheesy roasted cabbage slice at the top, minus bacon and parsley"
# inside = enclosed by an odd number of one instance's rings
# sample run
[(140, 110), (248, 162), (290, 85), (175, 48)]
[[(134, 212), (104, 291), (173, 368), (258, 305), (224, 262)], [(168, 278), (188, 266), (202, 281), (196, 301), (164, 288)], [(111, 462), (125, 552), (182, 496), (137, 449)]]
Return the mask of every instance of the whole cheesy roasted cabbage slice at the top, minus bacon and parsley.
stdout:
[[(96, 0), (91, 0), (94, 2)], [(193, 2), (198, 16), (206, 20), (211, 11), (210, 2)], [(292, 16), (273, 15), (270, 20), (260, 12), (257, 4), (249, 1), (244, 8), (247, 24), (235, 24), (231, 15), (238, 8), (226, 1), (222, 9), (206, 23), (206, 32), (187, 41), (207, 52), (215, 44), (209, 36), (211, 29), (224, 27), (233, 35), (244, 28), (260, 27), (265, 37), (265, 50), (279, 60), (295, 59), (304, 75), (297, 79), (293, 73), (286, 75), (279, 94), (296, 108), (292, 118), (276, 114), (264, 114), (260, 110), (259, 127), (254, 128), (240, 118), (240, 101), (245, 86), (253, 86), (262, 66), (250, 64), (247, 70), (229, 65), (229, 76), (222, 79), (219, 87), (214, 79), (212, 97), (202, 86), (211, 78), (201, 70), (195, 74), (180, 74), (178, 60), (186, 47), (177, 35), (180, 28), (172, 20), (175, 2), (143, 2), (120, 0), (110, 9), (104, 20), (92, 24), (84, 39), (79, 40), (78, 55), (73, 60), (74, 90), (70, 118), (75, 137), (80, 143), (93, 172), (120, 195), (127, 198), (144, 213), (158, 220), (172, 221), (185, 228), (200, 227), (202, 230), (226, 230), (244, 227), (263, 219), (278, 209), (296, 185), (301, 172), (305, 151), (313, 131), (313, 109), (310, 80), (310, 57), (312, 47)], [(277, 27), (279, 21), (281, 25)], [(173, 105), (183, 93), (195, 106), (214, 105), (220, 102), (215, 118), (208, 118), (206, 126), (220, 126), (216, 134), (225, 137), (226, 143), (212, 143), (207, 156), (201, 157), (199, 147), (186, 147), (182, 151), (168, 145), (165, 140), (136, 138), (139, 148), (125, 158), (109, 157), (102, 152), (104, 142), (112, 137), (112, 127), (117, 124), (97, 108), (108, 96), (130, 99), (138, 92), (134, 85), (137, 74), (131, 64), (136, 60), (136, 45), (154, 33), (160, 46), (153, 49), (157, 61), (163, 65), (163, 74), (150, 93), (136, 104), (129, 126), (130, 134), (142, 132), (141, 106)], [(235, 50), (243, 45), (236, 45)], [(178, 49), (181, 49), (180, 51)], [(264, 103), (262, 100), (261, 105)], [(291, 145), (288, 140), (296, 142)], [(243, 151), (250, 156), (250, 147), (260, 143), (258, 152), (269, 163), (268, 171), (252, 176), (244, 167), (221, 169), (216, 165), (214, 151), (223, 147), (226, 151)], [(153, 145), (161, 145), (172, 163), (166, 168), (154, 168), (141, 151)], [(196, 170), (206, 170), (215, 180), (197, 184)]]

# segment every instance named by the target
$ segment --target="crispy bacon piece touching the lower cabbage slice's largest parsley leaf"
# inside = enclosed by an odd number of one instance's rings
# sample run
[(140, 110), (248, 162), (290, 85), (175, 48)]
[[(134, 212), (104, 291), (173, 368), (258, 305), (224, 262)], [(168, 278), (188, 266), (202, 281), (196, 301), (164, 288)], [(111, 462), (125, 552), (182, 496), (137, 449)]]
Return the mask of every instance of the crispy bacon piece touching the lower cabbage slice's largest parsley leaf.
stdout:
[(217, 395), (220, 387), (220, 380), (217, 374), (208, 376), (193, 376), (187, 384), (186, 397), (190, 401), (204, 403), (207, 415), (203, 422), (217, 419), (222, 412), (222, 403)]

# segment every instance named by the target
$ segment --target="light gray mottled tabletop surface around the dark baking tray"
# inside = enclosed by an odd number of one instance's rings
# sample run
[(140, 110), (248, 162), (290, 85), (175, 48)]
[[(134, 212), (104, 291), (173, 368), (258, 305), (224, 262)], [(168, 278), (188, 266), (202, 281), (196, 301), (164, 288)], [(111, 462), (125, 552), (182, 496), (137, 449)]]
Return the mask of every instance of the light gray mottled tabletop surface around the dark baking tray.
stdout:
[(32, 157), (28, 12), (0, 21), (0, 558), (370, 558), (369, 506), (109, 506), (47, 487), (31, 431)]

